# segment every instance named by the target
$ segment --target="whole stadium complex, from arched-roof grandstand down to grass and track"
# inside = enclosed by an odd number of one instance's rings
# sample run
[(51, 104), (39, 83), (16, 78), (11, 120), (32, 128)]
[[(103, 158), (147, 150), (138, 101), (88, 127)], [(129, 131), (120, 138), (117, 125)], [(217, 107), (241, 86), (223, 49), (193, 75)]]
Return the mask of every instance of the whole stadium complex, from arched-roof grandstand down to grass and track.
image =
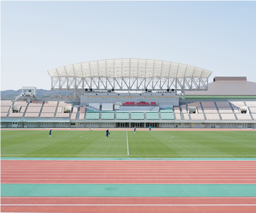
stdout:
[(48, 74), (73, 99), (1, 98), (1, 212), (255, 212), (256, 83), (135, 58)]

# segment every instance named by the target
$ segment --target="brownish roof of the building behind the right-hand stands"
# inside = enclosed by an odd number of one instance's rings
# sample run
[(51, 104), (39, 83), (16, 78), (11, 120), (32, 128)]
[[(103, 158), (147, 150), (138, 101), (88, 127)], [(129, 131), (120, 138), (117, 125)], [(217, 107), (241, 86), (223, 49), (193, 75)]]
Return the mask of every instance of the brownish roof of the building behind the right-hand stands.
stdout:
[(246, 77), (214, 77), (207, 91), (186, 91), (185, 95), (256, 95), (256, 83)]

